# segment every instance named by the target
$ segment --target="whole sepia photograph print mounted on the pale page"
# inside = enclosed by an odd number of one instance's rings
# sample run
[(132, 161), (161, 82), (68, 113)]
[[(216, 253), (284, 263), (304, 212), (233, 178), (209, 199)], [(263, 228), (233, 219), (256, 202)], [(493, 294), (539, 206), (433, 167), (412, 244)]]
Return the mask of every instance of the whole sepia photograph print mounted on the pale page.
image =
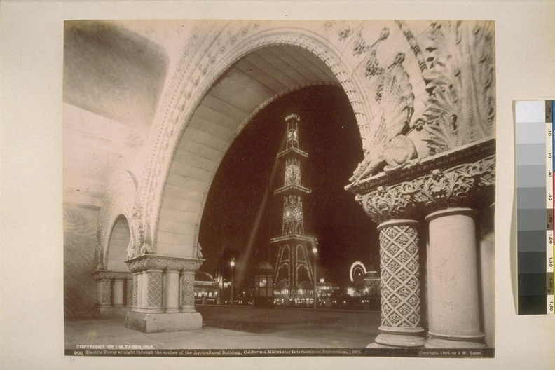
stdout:
[(60, 104), (66, 355), (495, 356), (495, 22), (66, 20)]

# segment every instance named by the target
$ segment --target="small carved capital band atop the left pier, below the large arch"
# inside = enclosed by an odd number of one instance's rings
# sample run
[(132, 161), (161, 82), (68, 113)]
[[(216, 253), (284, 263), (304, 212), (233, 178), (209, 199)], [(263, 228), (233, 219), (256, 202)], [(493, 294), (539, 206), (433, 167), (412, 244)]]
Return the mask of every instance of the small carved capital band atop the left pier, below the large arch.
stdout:
[(132, 273), (146, 270), (175, 272), (191, 271), (192, 273), (196, 273), (204, 261), (204, 259), (160, 256), (158, 254), (143, 254), (142, 256), (135, 257), (134, 259), (128, 259), (125, 263), (128, 264)]

